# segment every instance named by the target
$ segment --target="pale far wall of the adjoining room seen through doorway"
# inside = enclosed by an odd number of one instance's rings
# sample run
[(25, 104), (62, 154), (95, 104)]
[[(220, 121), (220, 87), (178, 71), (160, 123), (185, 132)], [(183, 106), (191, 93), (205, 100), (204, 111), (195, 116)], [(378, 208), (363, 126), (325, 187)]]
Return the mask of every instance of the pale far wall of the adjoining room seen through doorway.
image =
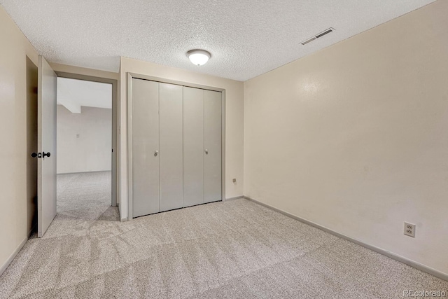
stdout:
[(111, 170), (112, 109), (57, 105), (57, 173)]

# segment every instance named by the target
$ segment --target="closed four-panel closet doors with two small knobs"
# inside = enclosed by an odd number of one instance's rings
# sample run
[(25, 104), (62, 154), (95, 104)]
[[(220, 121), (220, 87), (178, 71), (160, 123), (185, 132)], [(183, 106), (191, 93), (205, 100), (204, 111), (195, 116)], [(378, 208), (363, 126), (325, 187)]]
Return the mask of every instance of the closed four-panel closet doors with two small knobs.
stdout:
[(221, 200), (222, 93), (132, 78), (132, 216)]

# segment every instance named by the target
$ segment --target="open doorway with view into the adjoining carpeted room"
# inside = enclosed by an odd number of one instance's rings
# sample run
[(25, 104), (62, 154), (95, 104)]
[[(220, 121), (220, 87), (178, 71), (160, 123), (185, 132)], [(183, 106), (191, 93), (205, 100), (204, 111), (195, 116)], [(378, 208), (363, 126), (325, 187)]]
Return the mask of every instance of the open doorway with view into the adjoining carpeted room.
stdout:
[(118, 219), (111, 208), (117, 206), (117, 82), (56, 73), (57, 213)]

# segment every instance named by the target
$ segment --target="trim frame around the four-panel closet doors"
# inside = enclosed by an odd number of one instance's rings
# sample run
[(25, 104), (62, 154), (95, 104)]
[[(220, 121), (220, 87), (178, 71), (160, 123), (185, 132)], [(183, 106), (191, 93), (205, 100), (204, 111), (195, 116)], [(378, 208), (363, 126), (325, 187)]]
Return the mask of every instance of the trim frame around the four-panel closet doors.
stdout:
[(131, 221), (133, 218), (132, 204), (132, 79), (142, 79), (155, 81), (160, 83), (169, 83), (174, 85), (186, 86), (188, 88), (200, 88), (202, 90), (213, 90), (221, 92), (221, 200), (225, 199), (225, 89), (215, 88), (207, 85), (188, 83), (183, 81), (169, 80), (167, 78), (159, 78), (146, 76), (143, 74), (127, 73), (127, 219)]

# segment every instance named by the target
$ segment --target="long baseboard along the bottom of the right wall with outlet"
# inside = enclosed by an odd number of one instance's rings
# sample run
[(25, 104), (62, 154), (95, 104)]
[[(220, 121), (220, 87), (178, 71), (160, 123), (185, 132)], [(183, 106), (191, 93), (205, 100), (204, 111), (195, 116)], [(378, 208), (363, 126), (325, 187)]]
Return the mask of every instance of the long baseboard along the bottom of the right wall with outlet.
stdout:
[(434, 275), (435, 277), (438, 277), (440, 279), (444, 279), (444, 280), (448, 281), (448, 274), (447, 273), (441, 272), (439, 270), (435, 270), (434, 268), (428, 267), (428, 266), (423, 265), (421, 263), (418, 263), (415, 260), (410, 260), (409, 258), (405, 258), (404, 256), (400, 256), (400, 255), (398, 255), (396, 253), (393, 253), (391, 251), (387, 251), (387, 250), (379, 248), (377, 246), (374, 246), (374, 245), (371, 245), (371, 244), (367, 244), (367, 243), (365, 243), (363, 241), (360, 241), (358, 239), (353, 239), (352, 237), (343, 235), (343, 234), (341, 234), (339, 232), (335, 232), (334, 230), (330, 230), (330, 228), (325, 228), (325, 226), (322, 226), (320, 224), (314, 223), (312, 221), (309, 221), (307, 219), (301, 218), (299, 216), (295, 216), (293, 214), (288, 213), (287, 211), (283, 211), (281, 209), (277, 209), (276, 207), (272, 207), (269, 204), (265, 204), (263, 202), (259, 202), (258, 200), (254, 200), (251, 197), (244, 196), (244, 198), (246, 198), (246, 200), (250, 200), (251, 202), (255, 202), (257, 204), (260, 204), (263, 207), (267, 207), (267, 208), (272, 209), (274, 211), (278, 211), (279, 213), (281, 213), (281, 214), (283, 214), (285, 216), (288, 216), (290, 218), (293, 218), (293, 219), (295, 219), (297, 221), (300, 221), (302, 223), (314, 226), (314, 228), (318, 228), (320, 230), (328, 232), (328, 233), (330, 233), (332, 235), (335, 235), (336, 237), (341, 237), (342, 239), (346, 239), (346, 240), (348, 240), (350, 242), (353, 242), (353, 243), (358, 244), (360, 246), (363, 246), (363, 247), (365, 247), (367, 249), (370, 249), (372, 251), (380, 253), (380, 254), (382, 254), (384, 256), (387, 256), (388, 258), (392, 258), (394, 260), (398, 260), (400, 263), (404, 263), (404, 264), (409, 265), (411, 267), (414, 267), (414, 268), (416, 268), (418, 270), (421, 270), (421, 271), (426, 272), (428, 274)]

